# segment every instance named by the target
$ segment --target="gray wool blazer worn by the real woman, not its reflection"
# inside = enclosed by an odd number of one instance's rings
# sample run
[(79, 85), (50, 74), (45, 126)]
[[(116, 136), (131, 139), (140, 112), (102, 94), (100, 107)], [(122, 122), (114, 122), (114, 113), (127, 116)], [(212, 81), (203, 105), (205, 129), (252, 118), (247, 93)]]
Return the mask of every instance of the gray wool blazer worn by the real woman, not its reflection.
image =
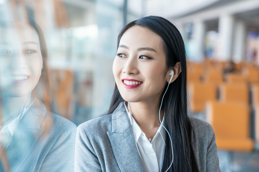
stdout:
[[(212, 126), (199, 119), (190, 120), (196, 134), (193, 148), (200, 172), (220, 171)], [(77, 171), (144, 172), (123, 103), (112, 114), (92, 119), (77, 127)]]

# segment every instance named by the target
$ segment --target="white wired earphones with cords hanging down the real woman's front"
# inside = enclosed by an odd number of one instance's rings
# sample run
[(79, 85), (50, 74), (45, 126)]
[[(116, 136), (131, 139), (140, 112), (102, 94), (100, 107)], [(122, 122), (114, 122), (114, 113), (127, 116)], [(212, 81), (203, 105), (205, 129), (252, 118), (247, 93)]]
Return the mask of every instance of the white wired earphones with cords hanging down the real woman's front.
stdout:
[[(169, 84), (171, 83), (171, 81), (172, 81), (172, 79), (173, 79), (173, 76), (174, 76), (174, 71), (173, 71), (173, 70), (171, 70), (171, 73), (170, 73), (170, 75), (169, 75), (169, 76), (171, 76), (171, 78), (170, 78), (170, 80), (169, 80), (169, 82), (168, 82), (168, 85), (167, 85), (166, 91), (164, 92), (164, 95), (166, 94), (167, 89), (168, 89), (168, 87), (169, 87)], [(171, 162), (171, 164), (170, 164), (170, 166), (169, 166), (169, 168), (170, 168), (170, 167), (172, 166), (172, 164), (173, 164), (173, 161), (174, 161), (174, 153), (173, 153), (173, 144), (172, 144), (172, 139), (171, 139), (171, 136), (170, 136), (170, 134), (169, 134), (168, 130), (167, 130), (167, 129), (166, 129), (166, 127), (162, 124), (161, 119), (160, 119), (160, 110), (161, 110), (161, 107), (162, 107), (162, 103), (163, 103), (164, 95), (163, 95), (163, 97), (162, 97), (161, 105), (160, 105), (160, 108), (159, 108), (159, 121), (160, 121), (161, 125), (164, 127), (164, 129), (167, 131), (167, 133), (168, 133), (168, 135), (169, 135), (169, 138), (170, 138), (170, 141), (171, 141), (171, 148), (172, 148), (172, 162)], [(129, 103), (129, 110), (130, 110), (130, 102), (128, 102), (128, 103)], [(132, 126), (132, 129), (133, 129), (133, 120), (132, 120), (131, 111), (130, 111), (130, 117), (131, 117), (131, 118), (130, 118), (130, 122), (131, 122), (131, 126)], [(135, 136), (134, 131), (133, 131), (133, 135), (134, 135), (134, 137), (135, 137), (135, 143), (136, 143), (136, 147), (137, 147), (137, 149), (138, 149), (138, 145), (137, 145), (136, 136)], [(139, 149), (138, 149), (138, 152), (139, 152)], [(139, 153), (139, 155), (140, 155), (140, 153)], [(141, 159), (141, 161), (142, 161), (142, 164), (143, 164), (144, 170), (146, 171), (146, 168), (145, 168), (145, 166), (144, 166), (144, 163), (143, 163), (143, 160), (142, 160), (141, 156), (140, 156), (140, 159)], [(169, 168), (168, 168), (165, 172), (167, 172), (167, 171), (169, 170)]]

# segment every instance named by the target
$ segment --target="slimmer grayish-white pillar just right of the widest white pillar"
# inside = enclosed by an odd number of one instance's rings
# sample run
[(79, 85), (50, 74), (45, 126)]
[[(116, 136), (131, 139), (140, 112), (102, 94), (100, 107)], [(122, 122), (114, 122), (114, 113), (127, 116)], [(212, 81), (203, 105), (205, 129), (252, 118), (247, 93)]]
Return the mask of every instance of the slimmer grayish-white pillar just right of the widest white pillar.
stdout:
[(239, 63), (244, 58), (246, 26), (243, 21), (236, 21), (233, 43), (233, 61)]

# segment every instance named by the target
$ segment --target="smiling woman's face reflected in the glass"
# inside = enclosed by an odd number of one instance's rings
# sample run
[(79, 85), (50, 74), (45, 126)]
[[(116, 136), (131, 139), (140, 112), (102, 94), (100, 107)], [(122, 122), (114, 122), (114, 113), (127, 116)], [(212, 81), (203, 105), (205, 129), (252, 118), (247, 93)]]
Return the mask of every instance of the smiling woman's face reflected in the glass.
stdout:
[(31, 26), (0, 30), (1, 89), (8, 96), (26, 96), (37, 85), (41, 75), (39, 37)]

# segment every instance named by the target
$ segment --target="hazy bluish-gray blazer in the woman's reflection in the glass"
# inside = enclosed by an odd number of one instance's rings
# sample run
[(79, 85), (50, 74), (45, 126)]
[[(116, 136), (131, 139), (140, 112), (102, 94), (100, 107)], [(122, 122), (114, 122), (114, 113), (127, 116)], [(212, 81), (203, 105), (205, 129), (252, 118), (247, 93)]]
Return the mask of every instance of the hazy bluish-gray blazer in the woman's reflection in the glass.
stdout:
[(45, 114), (43, 104), (33, 104), (24, 114), (6, 148), (10, 172), (74, 171), (76, 125), (52, 113), (53, 127), (43, 136)]

